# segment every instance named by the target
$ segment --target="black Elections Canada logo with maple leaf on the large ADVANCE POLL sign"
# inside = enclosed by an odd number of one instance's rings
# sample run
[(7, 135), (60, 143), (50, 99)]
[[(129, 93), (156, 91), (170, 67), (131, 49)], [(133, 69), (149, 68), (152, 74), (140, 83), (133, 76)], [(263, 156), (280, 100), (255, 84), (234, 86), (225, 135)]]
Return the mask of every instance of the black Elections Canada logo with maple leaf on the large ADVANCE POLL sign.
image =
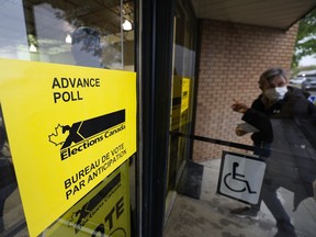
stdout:
[(125, 129), (125, 110), (104, 114), (69, 125), (58, 124), (48, 135), (50, 143), (60, 147), (65, 160)]

